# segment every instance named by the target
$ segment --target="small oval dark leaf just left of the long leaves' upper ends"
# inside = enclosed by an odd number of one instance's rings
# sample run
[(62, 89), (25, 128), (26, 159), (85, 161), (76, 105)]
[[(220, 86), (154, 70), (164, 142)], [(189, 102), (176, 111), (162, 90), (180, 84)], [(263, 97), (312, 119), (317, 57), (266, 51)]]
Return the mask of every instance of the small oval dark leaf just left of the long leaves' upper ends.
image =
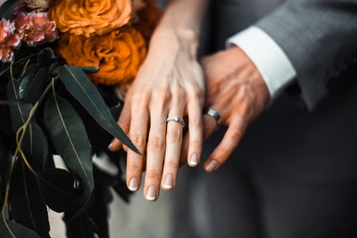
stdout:
[[(29, 86), (27, 88), (23, 88), (22, 94), (24, 95), (26, 101), (29, 101), (31, 103), (37, 102), (37, 100), (41, 97), (41, 94), (44, 91), (47, 77), (48, 77), (47, 68), (42, 68), (38, 70), (35, 77), (29, 82)], [(25, 79), (22, 81), (22, 83), (24, 81)], [(21, 86), (20, 86), (20, 94), (21, 94)]]

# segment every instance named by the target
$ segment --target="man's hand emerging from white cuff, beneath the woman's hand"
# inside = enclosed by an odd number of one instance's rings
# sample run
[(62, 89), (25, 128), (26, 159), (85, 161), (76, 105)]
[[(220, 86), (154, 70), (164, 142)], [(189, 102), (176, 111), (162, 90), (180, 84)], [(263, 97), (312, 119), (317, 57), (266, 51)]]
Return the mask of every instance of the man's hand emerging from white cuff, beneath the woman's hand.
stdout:
[[(204, 164), (205, 170), (211, 172), (228, 160), (246, 127), (269, 102), (270, 93), (259, 70), (239, 47), (203, 58), (202, 67), (206, 80), (204, 107), (219, 112), (220, 124), (228, 126), (226, 135)], [(212, 135), (216, 127), (215, 119), (204, 115), (203, 140)], [(183, 154), (189, 140), (188, 136), (184, 140)]]

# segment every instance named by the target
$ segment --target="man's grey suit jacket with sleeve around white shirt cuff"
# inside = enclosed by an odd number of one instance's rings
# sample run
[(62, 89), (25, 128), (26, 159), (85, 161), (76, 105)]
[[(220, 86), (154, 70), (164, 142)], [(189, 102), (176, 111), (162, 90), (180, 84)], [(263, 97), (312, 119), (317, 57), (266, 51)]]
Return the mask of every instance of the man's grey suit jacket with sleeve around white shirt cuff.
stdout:
[[(228, 163), (309, 182), (356, 180), (357, 1), (216, 0), (210, 11), (203, 32), (210, 52), (255, 24), (281, 46), (297, 72)], [(207, 142), (203, 156), (223, 133)]]

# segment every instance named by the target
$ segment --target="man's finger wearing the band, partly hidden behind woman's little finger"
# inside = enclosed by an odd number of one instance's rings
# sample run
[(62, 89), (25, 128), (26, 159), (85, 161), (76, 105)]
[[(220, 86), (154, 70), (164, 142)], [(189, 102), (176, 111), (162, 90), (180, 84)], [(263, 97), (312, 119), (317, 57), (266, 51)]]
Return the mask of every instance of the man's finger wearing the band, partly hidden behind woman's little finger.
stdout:
[[(203, 114), (203, 142), (206, 141), (216, 130), (217, 121), (207, 114)], [(182, 142), (181, 156), (179, 166), (183, 166), (187, 162), (187, 152), (189, 145), (189, 131)]]

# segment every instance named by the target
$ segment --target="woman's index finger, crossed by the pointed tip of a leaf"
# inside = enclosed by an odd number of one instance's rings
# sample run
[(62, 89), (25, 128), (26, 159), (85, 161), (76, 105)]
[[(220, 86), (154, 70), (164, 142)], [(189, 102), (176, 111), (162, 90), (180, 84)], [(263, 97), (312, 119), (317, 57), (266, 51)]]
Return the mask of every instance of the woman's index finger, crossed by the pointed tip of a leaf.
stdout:
[(137, 191), (140, 187), (141, 175), (144, 168), (144, 156), (146, 148), (146, 132), (148, 125), (149, 112), (145, 103), (133, 103), (132, 119), (130, 126), (130, 140), (137, 147), (137, 152), (128, 150), (127, 159), (127, 185), (129, 190)]

